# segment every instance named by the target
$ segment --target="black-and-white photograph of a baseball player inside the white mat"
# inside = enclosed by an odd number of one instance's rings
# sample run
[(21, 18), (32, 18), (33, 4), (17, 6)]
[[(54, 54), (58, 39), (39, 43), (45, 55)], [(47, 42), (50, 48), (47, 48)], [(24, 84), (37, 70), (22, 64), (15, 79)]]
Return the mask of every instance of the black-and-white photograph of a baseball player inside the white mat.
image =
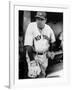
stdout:
[(19, 10), (19, 79), (60, 78), (63, 12)]

